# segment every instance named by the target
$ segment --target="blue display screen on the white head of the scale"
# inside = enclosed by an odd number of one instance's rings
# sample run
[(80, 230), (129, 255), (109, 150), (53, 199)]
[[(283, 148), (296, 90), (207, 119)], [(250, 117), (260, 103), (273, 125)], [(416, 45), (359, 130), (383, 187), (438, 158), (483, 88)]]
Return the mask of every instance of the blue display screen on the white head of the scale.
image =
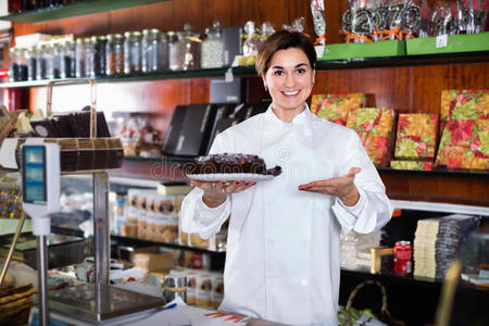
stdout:
[(24, 147), (22, 151), (23, 201), (46, 203), (46, 148), (43, 146)]

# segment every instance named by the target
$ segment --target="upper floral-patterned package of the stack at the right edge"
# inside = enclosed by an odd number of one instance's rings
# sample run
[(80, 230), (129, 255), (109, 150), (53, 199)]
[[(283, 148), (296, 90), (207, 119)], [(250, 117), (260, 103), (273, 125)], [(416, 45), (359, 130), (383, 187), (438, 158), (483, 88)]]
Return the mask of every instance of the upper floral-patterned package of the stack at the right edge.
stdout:
[(489, 118), (489, 89), (443, 90), (440, 130), (448, 121)]

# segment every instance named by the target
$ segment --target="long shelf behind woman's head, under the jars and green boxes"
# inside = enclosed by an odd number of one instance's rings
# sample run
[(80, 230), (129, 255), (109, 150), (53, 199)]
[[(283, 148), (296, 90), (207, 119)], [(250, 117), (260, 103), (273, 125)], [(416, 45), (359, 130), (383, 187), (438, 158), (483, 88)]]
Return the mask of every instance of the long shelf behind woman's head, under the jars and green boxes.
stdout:
[[(427, 65), (427, 64), (474, 63), (474, 62), (489, 62), (489, 51), (318, 61), (317, 71), (405, 66), (405, 65)], [(235, 67), (226, 66), (220, 68), (200, 68), (191, 71), (167, 71), (147, 74), (141, 73), (141, 74), (118, 75), (118, 76), (105, 76), (105, 77), (96, 77), (95, 80), (100, 84), (100, 83), (117, 83), (117, 82), (224, 77), (226, 72), (229, 70), (231, 70), (233, 75), (235, 77), (256, 76), (256, 71), (254, 66), (248, 65)], [(0, 87), (3, 88), (41, 87), (47, 86), (48, 82), (49, 80), (1, 83)], [(76, 83), (78, 82), (76, 78), (74, 78), (70, 84)], [(85, 82), (80, 80), (79, 83)]]

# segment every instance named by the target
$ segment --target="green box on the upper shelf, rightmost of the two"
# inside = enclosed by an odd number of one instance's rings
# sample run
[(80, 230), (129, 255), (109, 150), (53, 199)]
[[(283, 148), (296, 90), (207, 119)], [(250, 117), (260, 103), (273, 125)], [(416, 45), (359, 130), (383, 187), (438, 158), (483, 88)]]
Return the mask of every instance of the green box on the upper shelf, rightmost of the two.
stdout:
[(408, 55), (489, 51), (489, 32), (479, 34), (449, 35), (447, 47), (437, 48), (436, 37), (406, 40)]

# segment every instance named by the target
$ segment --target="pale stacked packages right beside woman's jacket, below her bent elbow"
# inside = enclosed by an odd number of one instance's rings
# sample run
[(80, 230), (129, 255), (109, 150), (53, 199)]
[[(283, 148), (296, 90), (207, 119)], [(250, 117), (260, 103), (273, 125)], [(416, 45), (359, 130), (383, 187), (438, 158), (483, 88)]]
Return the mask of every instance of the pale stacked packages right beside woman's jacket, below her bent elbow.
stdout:
[(371, 248), (380, 243), (380, 231), (360, 235), (354, 231), (341, 237), (341, 267), (371, 269)]

